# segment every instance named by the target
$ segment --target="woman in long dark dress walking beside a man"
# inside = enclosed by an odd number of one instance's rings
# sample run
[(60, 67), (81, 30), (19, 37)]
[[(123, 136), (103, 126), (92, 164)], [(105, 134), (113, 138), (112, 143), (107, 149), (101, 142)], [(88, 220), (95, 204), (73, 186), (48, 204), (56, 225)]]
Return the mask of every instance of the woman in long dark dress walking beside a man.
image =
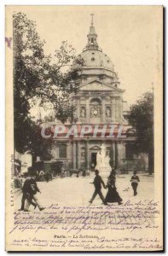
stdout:
[(107, 195), (105, 198), (105, 202), (118, 202), (119, 205), (122, 204), (122, 198), (119, 196), (119, 193), (117, 192), (117, 188), (115, 186), (116, 177), (115, 177), (115, 171), (112, 171), (110, 173), (110, 176), (107, 179)]

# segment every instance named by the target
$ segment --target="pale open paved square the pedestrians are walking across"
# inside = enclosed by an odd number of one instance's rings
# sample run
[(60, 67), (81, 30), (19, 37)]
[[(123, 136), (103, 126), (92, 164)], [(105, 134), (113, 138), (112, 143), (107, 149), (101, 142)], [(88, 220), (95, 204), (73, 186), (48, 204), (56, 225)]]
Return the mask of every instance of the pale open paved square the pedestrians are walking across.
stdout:
[[(138, 174), (139, 175), (139, 174)], [(116, 187), (119, 195), (126, 201), (140, 201), (144, 199), (154, 199), (154, 177), (140, 174), (140, 183), (137, 189), (137, 195), (133, 196), (133, 190), (130, 184), (130, 177), (132, 174), (117, 175)], [(49, 207), (51, 204), (58, 203), (61, 206), (88, 206), (89, 201), (94, 192), (93, 182), (94, 175), (91, 173), (90, 177), (57, 177), (50, 181), (38, 182), (38, 188), (41, 190), (41, 194), (38, 193), (38, 199), (43, 207)], [(107, 178), (103, 178), (107, 183)], [(107, 189), (102, 189), (102, 193), (105, 196)], [(15, 192), (15, 209), (20, 208), (21, 191)], [(92, 205), (100, 206), (101, 199), (97, 196)], [(33, 207), (30, 207), (33, 211)], [(36, 209), (35, 211), (38, 211)]]

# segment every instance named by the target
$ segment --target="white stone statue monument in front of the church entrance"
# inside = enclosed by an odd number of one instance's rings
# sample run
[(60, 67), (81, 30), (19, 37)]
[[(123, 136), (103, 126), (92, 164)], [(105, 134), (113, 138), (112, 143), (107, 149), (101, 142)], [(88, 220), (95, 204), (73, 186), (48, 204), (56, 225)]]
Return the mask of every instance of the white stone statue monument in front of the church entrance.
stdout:
[(104, 174), (106, 173), (107, 175), (109, 175), (109, 172), (112, 171), (109, 162), (110, 158), (107, 155), (106, 146), (102, 143), (101, 151), (96, 154), (96, 169), (99, 172), (104, 172)]

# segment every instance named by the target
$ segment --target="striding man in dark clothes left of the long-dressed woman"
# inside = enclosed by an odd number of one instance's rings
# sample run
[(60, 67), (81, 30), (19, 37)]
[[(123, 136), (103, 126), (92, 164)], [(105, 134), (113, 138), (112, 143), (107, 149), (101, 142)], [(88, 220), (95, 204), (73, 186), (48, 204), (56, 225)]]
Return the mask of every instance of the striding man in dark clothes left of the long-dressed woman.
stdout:
[(94, 201), (94, 199), (96, 198), (96, 195), (99, 195), (103, 204), (107, 205), (107, 202), (104, 201), (104, 196), (102, 195), (102, 192), (101, 192), (101, 184), (102, 184), (103, 188), (106, 189), (105, 183), (103, 182), (101, 176), (99, 175), (98, 170), (95, 171), (95, 174), (96, 174), (96, 177), (94, 178), (94, 182), (92, 183), (95, 186), (95, 192), (92, 195), (92, 198), (89, 202), (91, 204)]

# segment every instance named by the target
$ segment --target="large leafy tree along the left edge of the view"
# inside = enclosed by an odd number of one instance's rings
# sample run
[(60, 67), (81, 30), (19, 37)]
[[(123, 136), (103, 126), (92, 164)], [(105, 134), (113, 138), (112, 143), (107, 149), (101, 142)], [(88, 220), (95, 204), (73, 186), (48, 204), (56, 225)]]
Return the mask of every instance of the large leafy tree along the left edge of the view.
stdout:
[(62, 70), (69, 67), (75, 57), (75, 51), (67, 41), (62, 42), (60, 49), (55, 50), (54, 58), (45, 55), (45, 43), (38, 36), (36, 24), (25, 14), (14, 14), (13, 25), (14, 146), (20, 154), (26, 151), (38, 154), (37, 148), (43, 145), (43, 138), (39, 141), (39, 137), (36, 137), (39, 125), (32, 119), (30, 110), (49, 103), (56, 118), (63, 122), (71, 118), (74, 108), (68, 99), (78, 91), (74, 81), (78, 78), (80, 67), (78, 65), (73, 69)]

